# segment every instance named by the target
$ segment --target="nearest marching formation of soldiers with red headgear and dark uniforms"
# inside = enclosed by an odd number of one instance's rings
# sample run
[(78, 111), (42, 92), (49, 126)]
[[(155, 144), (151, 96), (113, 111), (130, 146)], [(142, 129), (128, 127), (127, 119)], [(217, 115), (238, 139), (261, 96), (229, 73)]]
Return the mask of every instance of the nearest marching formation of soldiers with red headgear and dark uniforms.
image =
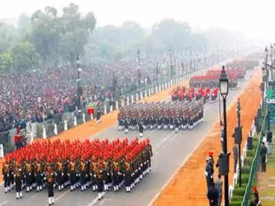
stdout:
[(3, 179), (5, 192), (16, 188), (16, 198), (22, 190), (41, 192), (48, 188), (49, 205), (54, 204), (54, 188), (69, 186), (71, 192), (117, 192), (123, 186), (131, 192), (146, 174), (151, 172), (153, 156), (149, 139), (116, 139), (108, 141), (36, 141), (5, 157)]

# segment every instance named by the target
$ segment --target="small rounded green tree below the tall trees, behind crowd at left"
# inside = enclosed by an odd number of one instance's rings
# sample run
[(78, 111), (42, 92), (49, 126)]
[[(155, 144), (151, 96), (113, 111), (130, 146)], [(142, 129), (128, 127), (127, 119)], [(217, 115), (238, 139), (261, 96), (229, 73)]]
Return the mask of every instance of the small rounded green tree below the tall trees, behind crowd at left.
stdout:
[(19, 72), (35, 68), (39, 65), (39, 55), (30, 42), (19, 42), (12, 48), (14, 69)]

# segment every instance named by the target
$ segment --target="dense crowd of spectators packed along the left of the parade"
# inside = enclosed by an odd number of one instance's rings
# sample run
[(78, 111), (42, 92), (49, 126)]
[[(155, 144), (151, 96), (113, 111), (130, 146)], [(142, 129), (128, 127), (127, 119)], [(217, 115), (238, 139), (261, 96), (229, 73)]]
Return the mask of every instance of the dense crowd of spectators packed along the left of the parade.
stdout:
[[(157, 57), (159, 76), (167, 74), (170, 59)], [(95, 61), (82, 66), (80, 105), (118, 98), (156, 81), (155, 58)], [(62, 66), (47, 70), (0, 75), (0, 132), (24, 127), (26, 122), (43, 122), (55, 114), (72, 112), (78, 105), (76, 67)], [(167, 74), (168, 76), (168, 74)], [(140, 86), (138, 84), (140, 82)]]

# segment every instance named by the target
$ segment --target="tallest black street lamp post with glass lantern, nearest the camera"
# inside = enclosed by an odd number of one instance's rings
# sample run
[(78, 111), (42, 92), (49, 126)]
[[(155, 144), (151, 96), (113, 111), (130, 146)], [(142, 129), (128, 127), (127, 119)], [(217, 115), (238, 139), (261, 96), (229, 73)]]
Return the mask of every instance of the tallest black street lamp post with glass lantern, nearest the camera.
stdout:
[[(223, 154), (226, 159), (226, 168), (229, 170), (229, 154), (228, 154), (228, 146), (227, 146), (227, 120), (226, 120), (226, 98), (228, 96), (228, 76), (225, 72), (225, 67), (221, 71), (221, 77), (219, 78), (219, 89), (221, 96), (223, 98), (223, 141), (224, 141), (224, 150)], [(224, 173), (224, 201), (225, 206), (229, 206), (229, 197), (228, 197), (228, 170)]]

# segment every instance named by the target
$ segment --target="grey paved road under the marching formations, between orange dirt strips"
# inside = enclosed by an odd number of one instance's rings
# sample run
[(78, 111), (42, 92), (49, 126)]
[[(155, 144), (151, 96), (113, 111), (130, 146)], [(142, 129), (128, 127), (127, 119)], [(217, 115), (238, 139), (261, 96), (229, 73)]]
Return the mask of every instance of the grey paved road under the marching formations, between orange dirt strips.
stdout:
[[(248, 73), (248, 78), (252, 73)], [(228, 104), (241, 93), (243, 86), (247, 82), (241, 82), (238, 89), (230, 91), (228, 95)], [(219, 119), (219, 102), (209, 102), (205, 105), (204, 119), (201, 124), (193, 128), (191, 131), (181, 131), (174, 133), (173, 131), (145, 131), (144, 138), (151, 139), (153, 146), (153, 171), (148, 174), (140, 183), (135, 187), (131, 193), (126, 193), (124, 190), (120, 192), (107, 192), (101, 201), (97, 201), (97, 194), (91, 192), (56, 192), (55, 205), (112, 205), (112, 206), (144, 206), (148, 205), (151, 200), (162, 190), (162, 187), (168, 183), (169, 179), (179, 166), (192, 154), (192, 151), (203, 140), (203, 137), (208, 133), (214, 122)], [(131, 132), (128, 135), (119, 132), (116, 126), (111, 126), (98, 135), (94, 135), (91, 139), (95, 138), (108, 138), (114, 139), (118, 137), (137, 137), (137, 132)], [(23, 192), (23, 198), (19, 201), (15, 199), (15, 192), (8, 194), (3, 193), (3, 185), (0, 187), (0, 206), (8, 205), (47, 205), (47, 192), (36, 193), (32, 192), (27, 194)]]

